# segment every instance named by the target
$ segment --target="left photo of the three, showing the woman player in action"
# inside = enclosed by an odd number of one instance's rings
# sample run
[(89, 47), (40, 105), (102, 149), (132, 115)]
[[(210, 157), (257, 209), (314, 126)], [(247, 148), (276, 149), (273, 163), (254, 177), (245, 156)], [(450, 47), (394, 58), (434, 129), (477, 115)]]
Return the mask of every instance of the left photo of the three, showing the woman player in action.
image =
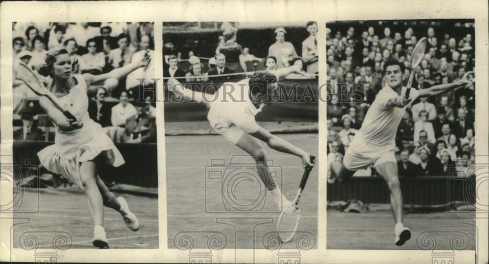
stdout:
[(13, 22), (17, 248), (158, 248), (153, 22)]

